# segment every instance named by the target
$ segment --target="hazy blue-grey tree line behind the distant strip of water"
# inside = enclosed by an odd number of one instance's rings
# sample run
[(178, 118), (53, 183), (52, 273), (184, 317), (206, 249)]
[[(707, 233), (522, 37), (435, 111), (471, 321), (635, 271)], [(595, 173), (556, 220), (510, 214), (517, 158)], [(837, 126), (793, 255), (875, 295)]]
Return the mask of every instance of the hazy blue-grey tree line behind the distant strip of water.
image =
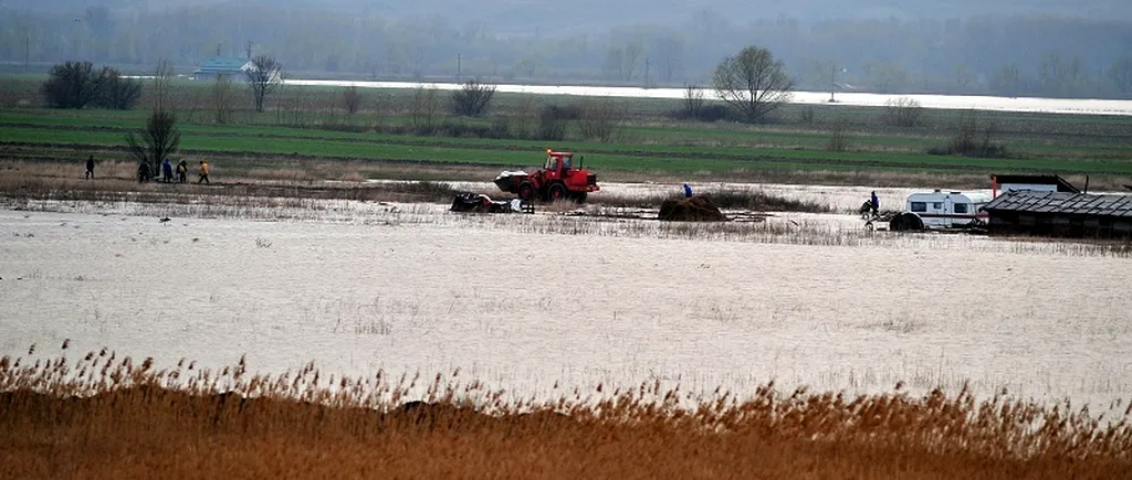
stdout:
[[(271, 54), (295, 76), (680, 86), (757, 44), (799, 89), (1069, 97), (1132, 96), (1132, 24), (1072, 17), (736, 19), (584, 30), (533, 25), (491, 32), (444, 17), (203, 6), (128, 12), (0, 10), (0, 61), (92, 61), (191, 73), (208, 56)], [(11, 69), (12, 67), (9, 67)]]

